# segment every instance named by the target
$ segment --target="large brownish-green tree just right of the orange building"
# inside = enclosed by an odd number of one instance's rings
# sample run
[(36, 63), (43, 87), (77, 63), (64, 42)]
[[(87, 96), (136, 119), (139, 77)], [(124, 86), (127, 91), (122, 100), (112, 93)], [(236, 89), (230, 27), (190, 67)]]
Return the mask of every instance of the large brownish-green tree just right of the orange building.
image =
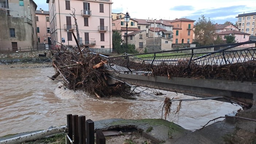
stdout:
[(195, 22), (194, 26), (195, 40), (201, 46), (209, 46), (213, 44), (215, 32), (215, 24), (210, 18), (206, 19), (205, 16), (201, 15), (201, 18), (198, 18), (198, 21)]

